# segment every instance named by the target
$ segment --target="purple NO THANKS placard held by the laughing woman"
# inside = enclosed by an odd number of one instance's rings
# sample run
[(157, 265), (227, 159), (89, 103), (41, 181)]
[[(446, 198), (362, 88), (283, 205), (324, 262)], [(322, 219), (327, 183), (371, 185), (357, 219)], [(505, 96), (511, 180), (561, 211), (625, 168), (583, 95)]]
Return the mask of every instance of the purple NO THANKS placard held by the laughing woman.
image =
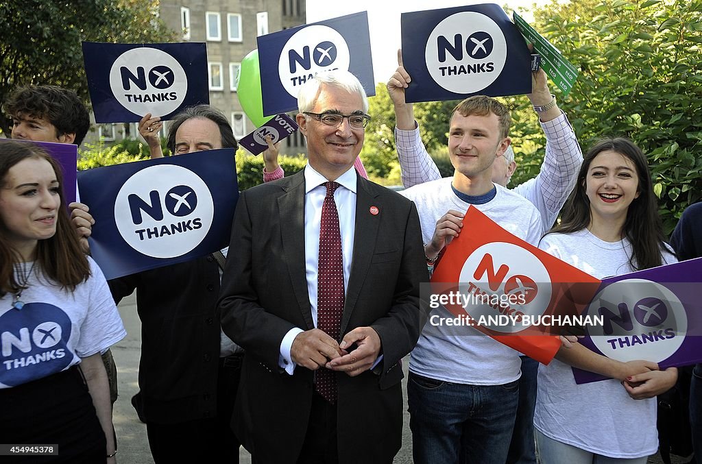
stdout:
[[(619, 361), (657, 362), (660, 369), (702, 362), (701, 277), (697, 258), (603, 279), (585, 314), (604, 316), (604, 325), (588, 328), (580, 343)], [(606, 378), (576, 368), (573, 375), (576, 383)]]

